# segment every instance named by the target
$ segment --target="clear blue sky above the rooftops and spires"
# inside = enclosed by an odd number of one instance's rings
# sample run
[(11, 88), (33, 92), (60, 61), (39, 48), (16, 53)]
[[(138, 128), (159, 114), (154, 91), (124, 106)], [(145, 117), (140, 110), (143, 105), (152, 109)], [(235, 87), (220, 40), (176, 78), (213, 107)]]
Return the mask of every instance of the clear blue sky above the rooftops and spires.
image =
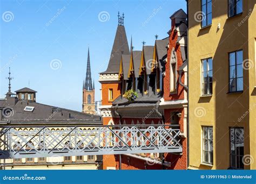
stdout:
[[(132, 36), (134, 50), (141, 50), (143, 40), (153, 45), (154, 35), (168, 36), (169, 17), (180, 8), (186, 11), (185, 0), (2, 0), (0, 98), (8, 91), (5, 77), (11, 67), (12, 91), (29, 87), (30, 81), (30, 88), (38, 91), (37, 102), (81, 111), (87, 47), (96, 100), (100, 100), (98, 73), (109, 61), (118, 11), (125, 13), (129, 44)], [(55, 59), (61, 67), (52, 69)]]

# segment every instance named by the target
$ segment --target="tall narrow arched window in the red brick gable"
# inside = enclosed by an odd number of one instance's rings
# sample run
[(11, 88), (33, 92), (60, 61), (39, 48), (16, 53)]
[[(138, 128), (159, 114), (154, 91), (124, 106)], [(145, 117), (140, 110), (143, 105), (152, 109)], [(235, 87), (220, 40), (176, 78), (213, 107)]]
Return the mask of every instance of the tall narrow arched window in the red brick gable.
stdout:
[(177, 85), (177, 54), (172, 48), (170, 59), (170, 92), (176, 91)]

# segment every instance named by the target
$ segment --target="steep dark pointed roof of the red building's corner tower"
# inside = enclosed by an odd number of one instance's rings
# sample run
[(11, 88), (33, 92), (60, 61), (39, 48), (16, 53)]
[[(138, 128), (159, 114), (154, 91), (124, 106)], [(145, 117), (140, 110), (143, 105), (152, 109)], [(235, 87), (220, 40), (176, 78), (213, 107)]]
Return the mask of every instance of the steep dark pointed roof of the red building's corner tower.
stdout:
[(129, 45), (126, 37), (125, 27), (117, 26), (116, 36), (110, 55), (109, 65), (105, 72), (100, 74), (118, 73), (122, 54), (130, 54)]

